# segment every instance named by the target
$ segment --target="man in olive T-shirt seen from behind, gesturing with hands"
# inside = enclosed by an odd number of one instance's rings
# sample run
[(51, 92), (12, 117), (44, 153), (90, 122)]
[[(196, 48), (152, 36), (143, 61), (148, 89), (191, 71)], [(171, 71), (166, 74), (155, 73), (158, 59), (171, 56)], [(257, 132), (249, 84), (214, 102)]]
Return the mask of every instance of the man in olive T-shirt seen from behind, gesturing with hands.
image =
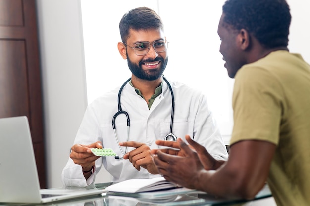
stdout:
[(190, 136), (196, 151), (181, 139), (157, 140), (172, 147), (152, 150), (167, 180), (245, 199), (268, 181), (278, 206), (309, 206), (310, 66), (288, 50), (290, 22), (285, 0), (225, 2), (217, 32), (224, 66), (235, 78), (229, 158), (215, 160)]

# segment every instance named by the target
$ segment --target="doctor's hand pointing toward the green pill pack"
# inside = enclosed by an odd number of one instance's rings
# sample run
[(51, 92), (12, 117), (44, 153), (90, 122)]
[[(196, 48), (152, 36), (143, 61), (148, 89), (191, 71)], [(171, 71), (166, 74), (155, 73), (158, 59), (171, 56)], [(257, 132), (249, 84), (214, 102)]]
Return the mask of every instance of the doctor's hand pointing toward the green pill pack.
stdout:
[(142, 167), (147, 169), (151, 174), (159, 174), (149, 146), (144, 143), (135, 141), (120, 142), (119, 145), (123, 147), (136, 148), (130, 152), (127, 152), (124, 155), (124, 159), (129, 159), (129, 161), (138, 171), (140, 171), (140, 167)]

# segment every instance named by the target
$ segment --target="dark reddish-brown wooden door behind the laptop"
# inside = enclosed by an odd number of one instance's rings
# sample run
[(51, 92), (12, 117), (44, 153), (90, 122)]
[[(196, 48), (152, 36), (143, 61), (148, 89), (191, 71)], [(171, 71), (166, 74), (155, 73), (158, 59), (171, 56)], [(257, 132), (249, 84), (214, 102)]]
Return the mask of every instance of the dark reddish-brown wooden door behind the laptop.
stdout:
[(46, 188), (41, 92), (35, 0), (0, 0), (0, 118), (28, 117), (40, 186)]

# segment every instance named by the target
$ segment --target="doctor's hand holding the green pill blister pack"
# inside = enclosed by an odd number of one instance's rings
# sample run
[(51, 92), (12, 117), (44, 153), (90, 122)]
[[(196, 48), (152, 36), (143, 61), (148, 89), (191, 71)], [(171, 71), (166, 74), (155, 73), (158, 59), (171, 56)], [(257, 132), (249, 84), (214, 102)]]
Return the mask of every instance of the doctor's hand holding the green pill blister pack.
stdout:
[(83, 171), (91, 170), (92, 166), (95, 165), (95, 160), (100, 158), (98, 156), (95, 156), (90, 148), (103, 148), (103, 147), (100, 141), (89, 145), (75, 144), (71, 147), (70, 158), (73, 160), (75, 164), (81, 165)]

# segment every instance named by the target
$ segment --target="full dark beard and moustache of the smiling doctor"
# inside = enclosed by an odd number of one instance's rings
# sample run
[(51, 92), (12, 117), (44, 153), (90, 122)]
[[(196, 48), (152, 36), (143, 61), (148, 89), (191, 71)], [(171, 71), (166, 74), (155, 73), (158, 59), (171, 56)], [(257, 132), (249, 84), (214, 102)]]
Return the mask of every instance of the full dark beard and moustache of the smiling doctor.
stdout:
[[(161, 66), (158, 69), (153, 69), (149, 71), (144, 71), (142, 69), (143, 63), (154, 62), (154, 61), (161, 62)], [(135, 75), (137, 78), (141, 80), (148, 80), (148, 81), (157, 80), (158, 78), (162, 76), (163, 72), (165, 71), (167, 63), (168, 63), (168, 57), (166, 59), (163, 59), (162, 57), (157, 56), (155, 59), (147, 59), (147, 60), (140, 61), (139, 64), (136, 65), (132, 61), (130, 61), (127, 55), (127, 64), (128, 64), (130, 71), (132, 72), (133, 75)]]

